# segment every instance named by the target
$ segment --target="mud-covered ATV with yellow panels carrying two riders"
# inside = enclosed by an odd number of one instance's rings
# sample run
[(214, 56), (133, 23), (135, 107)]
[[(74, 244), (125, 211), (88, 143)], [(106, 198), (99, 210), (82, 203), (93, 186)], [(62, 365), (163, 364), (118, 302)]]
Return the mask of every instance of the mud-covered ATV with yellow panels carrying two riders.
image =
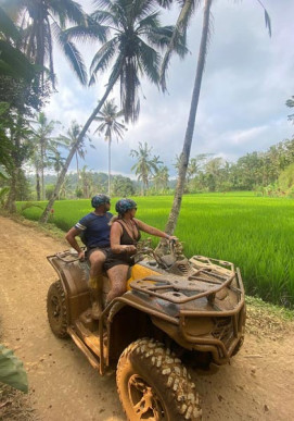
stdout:
[[(128, 290), (91, 318), (89, 265), (66, 250), (48, 257), (59, 274), (48, 292), (53, 333), (71, 336), (100, 374), (116, 369), (128, 420), (201, 420), (182, 361), (225, 364), (244, 337), (244, 288), (232, 263), (193, 256), (181, 245), (154, 251), (142, 243)], [(104, 302), (108, 280), (104, 276)], [(118, 362), (117, 362), (118, 361)]]

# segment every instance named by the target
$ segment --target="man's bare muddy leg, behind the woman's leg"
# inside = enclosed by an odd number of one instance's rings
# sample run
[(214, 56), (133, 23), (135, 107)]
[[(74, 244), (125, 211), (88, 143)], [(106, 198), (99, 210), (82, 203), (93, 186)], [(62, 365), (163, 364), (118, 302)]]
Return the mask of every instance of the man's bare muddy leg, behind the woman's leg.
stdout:
[(101, 312), (103, 311), (102, 305), (102, 290), (103, 290), (103, 277), (102, 277), (102, 269), (103, 263), (105, 261), (105, 255), (95, 250), (90, 255), (90, 281), (89, 288), (91, 294), (92, 301), (92, 318), (99, 319)]

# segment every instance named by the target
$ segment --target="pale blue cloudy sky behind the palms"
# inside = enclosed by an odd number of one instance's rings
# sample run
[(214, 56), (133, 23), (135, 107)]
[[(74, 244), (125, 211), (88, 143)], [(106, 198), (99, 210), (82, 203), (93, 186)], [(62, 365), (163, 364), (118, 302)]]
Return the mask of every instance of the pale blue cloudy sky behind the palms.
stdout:
[[(89, 11), (90, 1), (79, 1)], [(264, 0), (270, 14), (272, 36), (268, 36), (264, 11), (257, 0), (215, 0), (213, 34), (202, 83), (191, 157), (214, 153), (228, 161), (263, 151), (294, 133), (287, 122), (285, 100), (294, 95), (294, 1)], [(175, 8), (163, 15), (165, 24), (176, 22)], [(168, 94), (143, 82), (141, 113), (128, 126), (125, 139), (112, 146), (113, 173), (131, 175), (135, 160), (131, 149), (146, 141), (152, 154), (159, 156), (175, 176), (175, 158), (180, 154), (187, 127), (196, 69), (202, 9), (191, 21), (190, 54), (183, 61), (176, 57), (168, 72)], [(82, 48), (87, 63), (99, 46)], [(65, 127), (73, 120), (84, 125), (104, 92), (106, 79), (92, 88), (81, 87), (68, 64), (55, 51), (57, 92), (44, 112)], [(116, 91), (110, 96), (119, 104)], [(107, 144), (103, 137), (90, 137), (95, 149), (88, 149), (85, 162), (89, 170), (107, 172)], [(73, 162), (73, 170), (75, 164)], [(132, 175), (133, 177), (133, 175)]]

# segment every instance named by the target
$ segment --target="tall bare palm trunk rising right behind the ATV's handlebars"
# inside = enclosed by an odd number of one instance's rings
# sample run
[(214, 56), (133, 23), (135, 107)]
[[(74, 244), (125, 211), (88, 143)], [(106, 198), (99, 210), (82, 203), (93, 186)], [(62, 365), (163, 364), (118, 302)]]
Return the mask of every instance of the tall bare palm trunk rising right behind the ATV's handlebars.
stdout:
[(168, 216), (167, 224), (165, 226), (166, 233), (170, 235), (174, 234), (174, 231), (177, 225), (178, 216), (180, 213), (180, 208), (181, 208), (181, 200), (183, 195), (187, 169), (189, 164), (191, 145), (193, 140), (195, 117), (197, 113), (202, 76), (203, 76), (205, 58), (207, 52), (207, 37), (209, 32), (209, 17), (210, 17), (212, 2), (213, 0), (206, 0), (204, 5), (202, 36), (201, 36), (201, 44), (200, 44), (200, 51), (199, 51), (199, 59), (197, 59), (196, 76), (195, 76), (192, 101), (190, 107), (190, 114), (189, 114), (188, 125), (186, 129), (183, 148), (180, 157), (179, 173), (178, 173), (178, 181), (177, 181), (174, 202)]

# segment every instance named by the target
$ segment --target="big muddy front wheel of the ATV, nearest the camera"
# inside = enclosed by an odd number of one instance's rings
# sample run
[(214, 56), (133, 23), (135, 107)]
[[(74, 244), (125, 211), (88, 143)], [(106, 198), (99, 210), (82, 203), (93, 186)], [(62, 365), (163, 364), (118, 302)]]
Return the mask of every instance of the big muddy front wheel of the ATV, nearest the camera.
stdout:
[(122, 354), (118, 395), (131, 421), (201, 420), (195, 385), (181, 361), (163, 344), (138, 339)]

